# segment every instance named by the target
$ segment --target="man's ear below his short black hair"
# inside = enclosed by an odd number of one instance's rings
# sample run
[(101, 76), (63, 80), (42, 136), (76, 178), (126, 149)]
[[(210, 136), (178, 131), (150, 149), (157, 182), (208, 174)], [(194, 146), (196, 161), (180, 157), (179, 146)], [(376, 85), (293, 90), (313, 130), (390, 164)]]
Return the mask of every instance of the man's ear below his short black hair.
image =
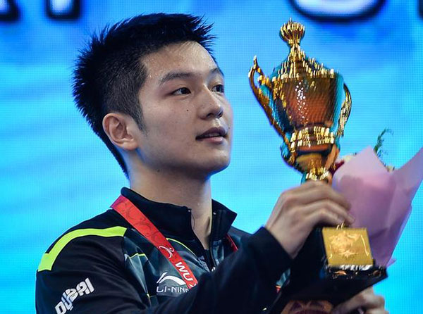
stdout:
[(137, 123), (130, 117), (122, 113), (107, 113), (103, 118), (103, 130), (110, 141), (125, 151), (137, 149), (138, 143), (134, 131)]

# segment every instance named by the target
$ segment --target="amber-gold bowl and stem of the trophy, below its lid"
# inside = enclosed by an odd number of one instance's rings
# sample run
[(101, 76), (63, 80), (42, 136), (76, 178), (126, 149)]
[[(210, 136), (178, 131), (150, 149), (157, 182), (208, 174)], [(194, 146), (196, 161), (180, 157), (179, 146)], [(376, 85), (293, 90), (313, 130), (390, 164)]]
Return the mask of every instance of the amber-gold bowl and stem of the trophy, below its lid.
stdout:
[(342, 106), (348, 106), (343, 104), (343, 78), (337, 74), (304, 77), (280, 85), (274, 99), (275, 114), (290, 122), (284, 127), (290, 142), (282, 147), (284, 159), (305, 174), (303, 181), (330, 182), (329, 168), (339, 151), (335, 130)]

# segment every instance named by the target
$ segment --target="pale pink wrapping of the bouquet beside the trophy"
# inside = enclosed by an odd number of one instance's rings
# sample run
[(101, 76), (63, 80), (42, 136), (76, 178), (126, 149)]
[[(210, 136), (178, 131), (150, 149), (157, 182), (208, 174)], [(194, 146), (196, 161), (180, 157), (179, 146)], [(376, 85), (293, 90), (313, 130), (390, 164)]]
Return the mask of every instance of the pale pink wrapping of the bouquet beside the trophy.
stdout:
[(371, 147), (344, 163), (332, 185), (352, 207), (352, 227), (366, 227), (377, 265), (391, 265), (393, 250), (423, 180), (423, 148), (398, 170), (388, 172)]

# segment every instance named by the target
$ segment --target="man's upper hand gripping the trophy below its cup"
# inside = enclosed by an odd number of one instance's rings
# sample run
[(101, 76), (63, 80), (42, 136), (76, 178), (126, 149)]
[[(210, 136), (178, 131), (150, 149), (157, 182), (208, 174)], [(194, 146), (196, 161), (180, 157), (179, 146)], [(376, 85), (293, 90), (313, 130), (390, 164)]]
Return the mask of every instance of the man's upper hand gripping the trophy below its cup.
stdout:
[(264, 227), (295, 258), (314, 226), (352, 223), (349, 208), (350, 203), (329, 184), (309, 181), (279, 196)]

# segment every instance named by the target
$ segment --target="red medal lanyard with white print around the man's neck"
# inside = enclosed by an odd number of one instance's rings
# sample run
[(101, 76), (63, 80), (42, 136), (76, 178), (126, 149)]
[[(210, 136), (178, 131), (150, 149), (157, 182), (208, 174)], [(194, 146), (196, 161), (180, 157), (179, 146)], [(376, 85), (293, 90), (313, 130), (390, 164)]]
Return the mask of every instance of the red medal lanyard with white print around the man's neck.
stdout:
[[(197, 279), (188, 267), (185, 260), (180, 257), (176, 249), (173, 249), (172, 244), (164, 237), (164, 235), (153, 225), (153, 223), (125, 196), (121, 195), (110, 206), (117, 211), (126, 221), (132, 225), (137, 232), (140, 232), (145, 239), (153, 244), (164, 257), (166, 257), (178, 270), (180, 276), (183, 278), (188, 289), (197, 284)], [(237, 251), (238, 248), (233, 242), (233, 239), (226, 235), (231, 249)]]

